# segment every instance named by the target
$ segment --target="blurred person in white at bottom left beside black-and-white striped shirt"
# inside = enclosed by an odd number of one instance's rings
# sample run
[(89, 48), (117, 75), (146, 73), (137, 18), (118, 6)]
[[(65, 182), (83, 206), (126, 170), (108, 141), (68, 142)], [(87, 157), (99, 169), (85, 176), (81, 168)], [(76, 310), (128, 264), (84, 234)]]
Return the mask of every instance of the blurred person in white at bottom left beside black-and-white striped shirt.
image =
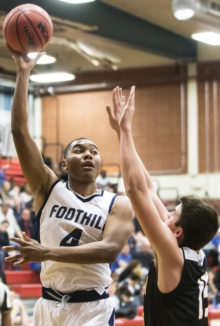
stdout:
[(26, 309), (19, 298), (19, 295), (14, 291), (10, 291), (10, 299), (12, 304), (11, 310), (11, 321), (12, 325), (22, 325), (28, 326), (28, 314), (26, 313)]

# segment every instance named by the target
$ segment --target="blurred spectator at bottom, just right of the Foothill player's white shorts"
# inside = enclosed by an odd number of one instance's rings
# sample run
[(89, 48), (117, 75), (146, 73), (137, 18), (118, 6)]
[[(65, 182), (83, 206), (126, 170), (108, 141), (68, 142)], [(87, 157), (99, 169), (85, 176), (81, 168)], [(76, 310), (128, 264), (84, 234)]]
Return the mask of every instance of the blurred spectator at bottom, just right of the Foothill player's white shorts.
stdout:
[(137, 306), (133, 303), (131, 292), (126, 286), (122, 286), (117, 291), (119, 296), (119, 308), (115, 311), (115, 317), (125, 317), (133, 319), (136, 316)]

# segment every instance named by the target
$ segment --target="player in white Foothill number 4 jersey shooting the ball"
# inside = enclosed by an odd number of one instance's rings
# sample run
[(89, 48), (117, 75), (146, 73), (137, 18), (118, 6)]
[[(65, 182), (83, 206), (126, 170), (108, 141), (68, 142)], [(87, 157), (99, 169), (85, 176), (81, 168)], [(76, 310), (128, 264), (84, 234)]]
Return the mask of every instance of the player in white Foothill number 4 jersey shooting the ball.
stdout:
[[(28, 128), (28, 82), (34, 60), (14, 53), (17, 82), (12, 105), (12, 134), (22, 172), (32, 190), (39, 226), (38, 243), (23, 233), (5, 247), (23, 258), (14, 265), (42, 262), (42, 298), (35, 326), (113, 326), (114, 303), (108, 295), (113, 263), (131, 233), (132, 208), (126, 197), (96, 188), (100, 155), (82, 138), (65, 149), (62, 168), (68, 183), (43, 164)], [(73, 121), (74, 125), (74, 121)]]

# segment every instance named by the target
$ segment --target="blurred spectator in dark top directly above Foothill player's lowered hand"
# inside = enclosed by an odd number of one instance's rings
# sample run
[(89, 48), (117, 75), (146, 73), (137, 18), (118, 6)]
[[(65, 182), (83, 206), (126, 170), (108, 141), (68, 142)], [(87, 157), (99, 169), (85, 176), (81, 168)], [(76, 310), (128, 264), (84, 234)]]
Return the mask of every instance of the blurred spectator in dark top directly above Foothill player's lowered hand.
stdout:
[(26, 233), (26, 236), (37, 240), (37, 225), (34, 224), (31, 220), (31, 210), (24, 208), (21, 212), (21, 219), (18, 221), (18, 224), (22, 231)]

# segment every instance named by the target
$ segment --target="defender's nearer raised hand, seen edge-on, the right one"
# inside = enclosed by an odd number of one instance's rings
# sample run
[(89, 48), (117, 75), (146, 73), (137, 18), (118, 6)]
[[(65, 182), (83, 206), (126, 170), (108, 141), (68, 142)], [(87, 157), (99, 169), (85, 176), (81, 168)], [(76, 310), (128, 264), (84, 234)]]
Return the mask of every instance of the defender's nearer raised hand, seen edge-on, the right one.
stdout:
[(127, 104), (119, 120), (119, 127), (121, 130), (131, 128), (131, 121), (134, 113), (134, 93), (135, 86), (132, 86)]

